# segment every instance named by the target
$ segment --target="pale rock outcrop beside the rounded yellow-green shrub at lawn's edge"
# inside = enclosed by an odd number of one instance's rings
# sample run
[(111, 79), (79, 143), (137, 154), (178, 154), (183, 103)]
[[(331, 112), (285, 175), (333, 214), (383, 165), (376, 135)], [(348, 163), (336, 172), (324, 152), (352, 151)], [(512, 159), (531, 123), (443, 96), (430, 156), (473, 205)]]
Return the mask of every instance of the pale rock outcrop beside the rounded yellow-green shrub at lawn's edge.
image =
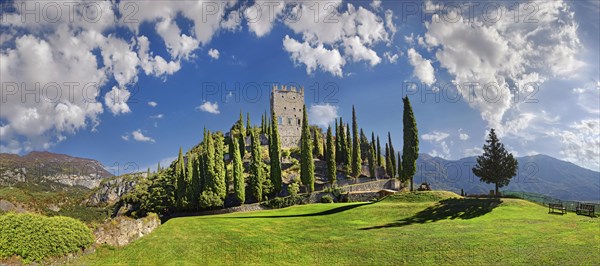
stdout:
[(141, 219), (119, 216), (99, 226), (94, 231), (94, 235), (98, 245), (122, 247), (151, 233), (158, 226), (160, 226), (160, 219), (153, 213)]

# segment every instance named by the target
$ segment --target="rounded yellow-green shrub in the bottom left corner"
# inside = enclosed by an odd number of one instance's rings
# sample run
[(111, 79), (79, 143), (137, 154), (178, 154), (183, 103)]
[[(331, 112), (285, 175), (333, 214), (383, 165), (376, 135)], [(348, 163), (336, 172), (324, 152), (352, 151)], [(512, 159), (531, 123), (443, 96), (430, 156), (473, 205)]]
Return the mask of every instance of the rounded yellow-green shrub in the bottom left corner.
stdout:
[(94, 242), (92, 231), (69, 217), (8, 213), (0, 216), (0, 258), (24, 263), (81, 251)]

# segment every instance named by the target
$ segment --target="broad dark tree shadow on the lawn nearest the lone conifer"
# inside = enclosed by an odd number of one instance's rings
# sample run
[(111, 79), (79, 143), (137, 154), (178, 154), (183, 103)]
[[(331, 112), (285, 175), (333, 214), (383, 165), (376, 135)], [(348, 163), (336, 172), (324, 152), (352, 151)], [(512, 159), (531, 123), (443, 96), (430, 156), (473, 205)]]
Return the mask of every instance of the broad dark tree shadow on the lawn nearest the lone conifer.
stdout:
[(502, 203), (500, 199), (445, 199), (434, 206), (416, 213), (412, 217), (385, 225), (361, 228), (360, 230), (403, 227), (415, 223), (424, 224), (445, 219), (472, 219), (491, 212), (500, 203)]

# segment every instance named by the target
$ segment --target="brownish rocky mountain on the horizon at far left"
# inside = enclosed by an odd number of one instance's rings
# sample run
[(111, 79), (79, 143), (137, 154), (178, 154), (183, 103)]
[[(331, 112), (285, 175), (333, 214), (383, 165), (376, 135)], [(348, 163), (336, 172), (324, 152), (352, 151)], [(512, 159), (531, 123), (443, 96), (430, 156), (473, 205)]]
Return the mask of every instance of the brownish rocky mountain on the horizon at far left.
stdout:
[(98, 187), (104, 178), (113, 176), (96, 160), (77, 158), (51, 152), (30, 152), (27, 155), (0, 153), (0, 185), (17, 182), (58, 183)]

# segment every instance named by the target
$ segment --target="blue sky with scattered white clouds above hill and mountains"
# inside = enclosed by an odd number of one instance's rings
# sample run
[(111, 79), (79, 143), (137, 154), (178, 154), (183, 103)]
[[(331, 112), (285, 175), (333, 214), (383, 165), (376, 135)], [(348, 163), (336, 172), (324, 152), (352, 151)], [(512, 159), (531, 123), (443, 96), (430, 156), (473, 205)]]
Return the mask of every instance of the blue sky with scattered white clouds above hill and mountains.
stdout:
[[(597, 1), (470, 1), (460, 13), (435, 1), (35, 3), (2, 9), (2, 152), (143, 170), (198, 143), (204, 127), (227, 130), (240, 110), (260, 124), (279, 83), (305, 87), (311, 123), (349, 121), (355, 105), (360, 127), (382, 141), (390, 131), (395, 147), (409, 95), (421, 152), (479, 154), (494, 127), (518, 156), (600, 168)], [(59, 84), (61, 96), (12, 86), (36, 83)]]

